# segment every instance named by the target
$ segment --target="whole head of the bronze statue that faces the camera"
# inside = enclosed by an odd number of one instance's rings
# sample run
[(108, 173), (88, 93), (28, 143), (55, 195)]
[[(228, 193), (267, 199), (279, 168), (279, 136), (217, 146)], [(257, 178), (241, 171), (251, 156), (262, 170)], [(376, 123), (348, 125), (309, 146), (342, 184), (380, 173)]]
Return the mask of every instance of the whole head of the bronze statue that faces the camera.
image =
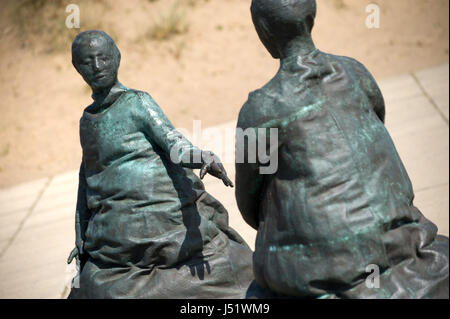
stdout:
[(101, 92), (117, 82), (120, 51), (103, 31), (81, 32), (72, 43), (72, 64), (94, 93)]

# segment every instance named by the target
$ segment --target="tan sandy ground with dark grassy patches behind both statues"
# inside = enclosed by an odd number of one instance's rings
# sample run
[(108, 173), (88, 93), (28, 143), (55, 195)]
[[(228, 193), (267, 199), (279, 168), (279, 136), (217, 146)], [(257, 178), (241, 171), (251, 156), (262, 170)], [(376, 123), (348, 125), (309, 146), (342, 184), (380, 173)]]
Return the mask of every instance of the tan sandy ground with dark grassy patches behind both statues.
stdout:
[[(449, 61), (448, 0), (317, 2), (316, 46), (356, 58), (377, 80)], [(81, 29), (65, 26), (69, 3), (79, 5)], [(149, 92), (176, 127), (235, 120), (278, 68), (254, 31), (250, 3), (2, 0), (0, 188), (79, 166), (78, 121), (91, 103), (71, 65), (79, 31), (109, 33), (122, 52), (120, 81)], [(379, 29), (365, 25), (369, 3), (380, 7)]]

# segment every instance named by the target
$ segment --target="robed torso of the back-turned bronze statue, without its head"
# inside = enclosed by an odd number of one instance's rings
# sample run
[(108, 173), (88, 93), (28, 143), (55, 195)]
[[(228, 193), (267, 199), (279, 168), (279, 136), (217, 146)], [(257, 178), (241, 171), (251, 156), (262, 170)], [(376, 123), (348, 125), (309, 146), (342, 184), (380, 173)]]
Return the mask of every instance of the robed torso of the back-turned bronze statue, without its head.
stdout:
[(385, 269), (401, 260), (400, 250), (415, 254), (410, 229), (398, 227), (421, 214), (368, 98), (370, 81), (355, 60), (316, 50), (283, 60), (241, 110), (238, 127), (279, 129), (278, 170), (264, 176), (255, 250), (257, 281), (273, 291), (347, 289), (368, 265)]

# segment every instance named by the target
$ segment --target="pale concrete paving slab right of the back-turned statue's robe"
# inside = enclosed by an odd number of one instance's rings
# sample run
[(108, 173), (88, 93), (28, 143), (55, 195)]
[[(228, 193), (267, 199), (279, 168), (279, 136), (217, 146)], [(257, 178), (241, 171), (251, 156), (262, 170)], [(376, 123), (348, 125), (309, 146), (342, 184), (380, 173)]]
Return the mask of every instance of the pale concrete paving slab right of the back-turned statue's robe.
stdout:
[[(399, 82), (400, 87), (407, 87), (408, 90), (414, 92), (421, 90), (412, 76), (400, 77)], [(387, 83), (388, 87), (396, 87), (394, 80), (388, 80)], [(418, 191), (448, 183), (448, 124), (442, 120), (432, 102), (423, 93), (407, 96), (391, 89), (384, 95), (386, 128), (414, 189)], [(399, 99), (399, 95), (402, 98)]]

